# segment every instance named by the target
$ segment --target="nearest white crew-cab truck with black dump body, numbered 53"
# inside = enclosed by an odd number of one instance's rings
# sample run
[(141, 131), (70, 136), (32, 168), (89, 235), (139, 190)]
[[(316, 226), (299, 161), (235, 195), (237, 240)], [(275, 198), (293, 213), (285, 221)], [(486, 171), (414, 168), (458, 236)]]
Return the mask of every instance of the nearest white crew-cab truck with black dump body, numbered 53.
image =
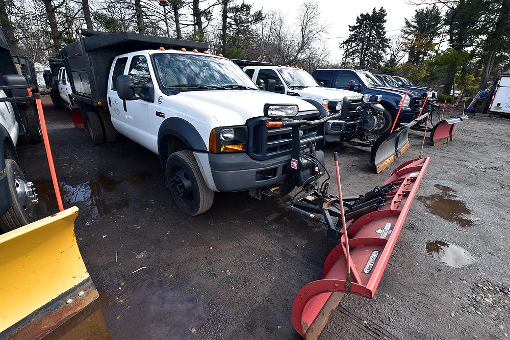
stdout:
[[(285, 181), (291, 129), (266, 122), (319, 117), (307, 101), (260, 90), (232, 61), (208, 54), (206, 43), (82, 34), (61, 54), (92, 141), (111, 142), (118, 132), (157, 153), (171, 196), (189, 215), (207, 211), (214, 191)], [(315, 140), (321, 127), (300, 131), (301, 141)], [(318, 159), (322, 148), (317, 143)]]

